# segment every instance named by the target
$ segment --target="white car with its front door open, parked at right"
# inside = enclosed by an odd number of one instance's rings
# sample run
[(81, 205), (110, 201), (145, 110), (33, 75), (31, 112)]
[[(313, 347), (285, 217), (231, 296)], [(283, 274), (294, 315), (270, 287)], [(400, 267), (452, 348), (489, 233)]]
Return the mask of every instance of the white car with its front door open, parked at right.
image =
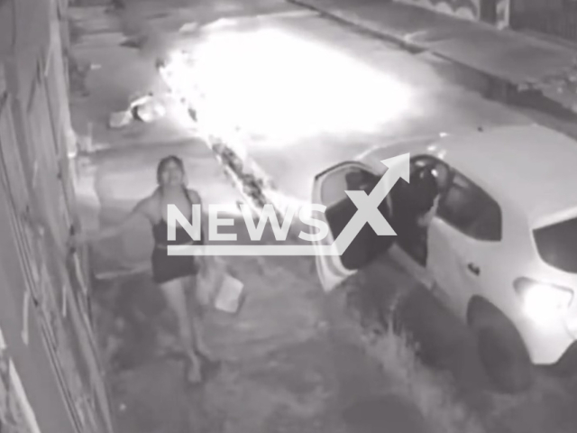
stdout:
[[(316, 176), (313, 202), (331, 227), (324, 244), (357, 210), (344, 189), (374, 185), (387, 170), (380, 161), (405, 153), (411, 176), (432, 170), (443, 192), (423, 237), (426, 260), (400, 236), (389, 254), (472, 327), (503, 389), (526, 389), (531, 364), (561, 364), (577, 347), (577, 143), (522, 125), (371, 149)], [(384, 208), (402, 197), (389, 194)], [(342, 256), (317, 256), (325, 290), (383, 260), (379, 245), (366, 224)]]

